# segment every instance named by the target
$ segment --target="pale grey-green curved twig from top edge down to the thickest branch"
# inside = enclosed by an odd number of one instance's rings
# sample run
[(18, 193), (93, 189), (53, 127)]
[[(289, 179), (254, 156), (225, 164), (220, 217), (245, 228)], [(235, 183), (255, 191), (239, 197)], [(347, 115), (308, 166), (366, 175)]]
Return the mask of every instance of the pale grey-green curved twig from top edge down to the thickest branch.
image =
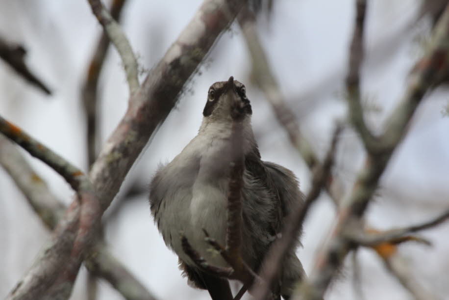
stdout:
[(98, 22), (103, 26), (104, 31), (122, 58), (129, 93), (132, 95), (139, 88), (139, 77), (137, 59), (132, 51), (128, 38), (100, 0), (89, 0), (89, 4)]

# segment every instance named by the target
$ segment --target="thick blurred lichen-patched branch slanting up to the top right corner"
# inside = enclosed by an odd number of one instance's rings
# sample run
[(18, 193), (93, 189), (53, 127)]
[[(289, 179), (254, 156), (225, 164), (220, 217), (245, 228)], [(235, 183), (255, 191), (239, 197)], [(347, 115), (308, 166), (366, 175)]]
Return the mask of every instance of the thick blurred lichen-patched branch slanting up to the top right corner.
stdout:
[[(297, 289), (296, 297), (298, 298), (295, 299), (319, 299), (323, 296), (346, 255), (354, 246), (343, 238), (342, 232), (347, 228), (346, 226), (350, 225), (352, 218), (359, 218), (364, 214), (378, 180), (393, 151), (405, 136), (406, 127), (424, 94), (440, 83), (447, 72), (448, 55), (449, 5), (434, 28), (432, 43), (419, 63), (421, 67), (413, 74), (404, 98), (393, 111), (390, 121), (385, 127), (385, 133), (381, 138), (382, 151), (369, 153), (367, 163), (359, 173), (345, 207), (339, 212), (332, 237), (317, 259), (319, 263), (316, 264), (309, 282), (303, 282)], [(422, 63), (423, 61), (425, 63)], [(312, 291), (313, 295), (306, 294), (307, 291)]]

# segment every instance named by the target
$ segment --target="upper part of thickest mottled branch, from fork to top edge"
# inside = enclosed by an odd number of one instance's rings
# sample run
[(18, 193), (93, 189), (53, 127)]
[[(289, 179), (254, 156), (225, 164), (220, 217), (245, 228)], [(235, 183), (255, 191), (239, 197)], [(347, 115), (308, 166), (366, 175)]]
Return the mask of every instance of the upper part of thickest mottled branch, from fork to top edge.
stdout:
[(204, 1), (140, 89), (131, 96), (125, 116), (90, 172), (103, 210), (118, 192), (150, 136), (175, 106), (184, 84), (244, 4), (245, 1), (238, 0)]

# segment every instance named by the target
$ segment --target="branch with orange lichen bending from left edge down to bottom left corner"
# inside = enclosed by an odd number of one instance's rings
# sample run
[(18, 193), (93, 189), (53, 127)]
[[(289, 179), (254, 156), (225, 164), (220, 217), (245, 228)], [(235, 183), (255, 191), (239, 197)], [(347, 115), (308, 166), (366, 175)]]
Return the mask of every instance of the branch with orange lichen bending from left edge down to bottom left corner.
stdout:
[[(56, 293), (66, 290), (65, 281), (76, 277), (80, 257), (92, 242), (94, 231), (100, 223), (100, 203), (88, 177), (77, 167), (70, 164), (49, 148), (26, 134), (19, 127), (0, 117), (0, 132), (22, 146), (32, 156), (48, 164), (58, 172), (76, 191), (76, 200), (69, 209), (65, 222), (55, 230), (55, 238), (41, 253), (33, 267), (11, 292), (9, 299), (34, 298), (39, 294), (28, 293), (21, 289), (29, 286), (34, 291), (51, 295), (42, 281), (55, 286)], [(74, 204), (78, 209), (74, 209)], [(61, 265), (66, 268), (61, 269)], [(65, 292), (64, 292), (65, 293)]]

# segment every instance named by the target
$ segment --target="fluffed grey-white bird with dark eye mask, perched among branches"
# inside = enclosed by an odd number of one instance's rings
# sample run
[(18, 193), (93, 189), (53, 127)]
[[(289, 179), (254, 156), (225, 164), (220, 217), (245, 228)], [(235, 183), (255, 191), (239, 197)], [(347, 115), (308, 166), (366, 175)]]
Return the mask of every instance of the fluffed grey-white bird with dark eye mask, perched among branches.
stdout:
[[(254, 272), (259, 271), (270, 245), (279, 238), (288, 214), (303, 205), (304, 195), (292, 171), (261, 160), (251, 126), (252, 108), (243, 83), (232, 76), (227, 81), (213, 83), (202, 114), (197, 136), (170, 163), (159, 166), (155, 172), (150, 183), (150, 211), (165, 244), (178, 256), (179, 268), (188, 278), (188, 284), (207, 289), (212, 300), (231, 300), (228, 280), (201, 270), (184, 252), (181, 237), (208, 264), (228, 266), (220, 255), (211, 251), (205, 234), (225, 245), (235, 122), (241, 126), (238, 155), (244, 161), (241, 255)], [(300, 235), (281, 267), (278, 299), (280, 295), (289, 299), (295, 284), (305, 276), (295, 254)]]

